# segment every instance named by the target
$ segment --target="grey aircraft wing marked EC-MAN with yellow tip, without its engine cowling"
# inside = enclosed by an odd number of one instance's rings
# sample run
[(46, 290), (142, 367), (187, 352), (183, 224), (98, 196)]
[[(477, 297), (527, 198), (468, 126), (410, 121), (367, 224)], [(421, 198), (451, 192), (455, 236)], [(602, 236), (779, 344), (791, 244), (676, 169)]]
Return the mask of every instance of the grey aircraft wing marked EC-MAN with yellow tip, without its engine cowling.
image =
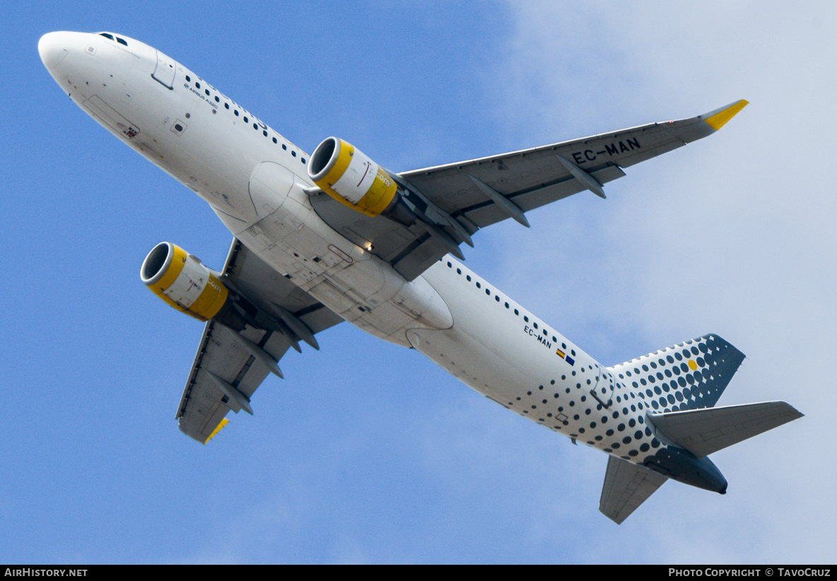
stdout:
[(526, 224), (523, 213), (573, 193), (590, 189), (603, 195), (602, 184), (624, 176), (623, 167), (711, 135), (745, 105), (746, 100), (738, 100), (691, 119), (650, 123), (400, 174), (391, 172), (411, 209), (423, 217), (411, 226), (383, 215), (369, 218), (358, 214), (322, 192), (311, 193), (311, 205), (331, 228), (359, 246), (371, 245), (373, 254), (413, 280), (451, 251), (450, 242), (445, 244), (428, 224), (435, 224), (453, 244), (470, 244), (470, 235), (478, 229), (507, 218)]

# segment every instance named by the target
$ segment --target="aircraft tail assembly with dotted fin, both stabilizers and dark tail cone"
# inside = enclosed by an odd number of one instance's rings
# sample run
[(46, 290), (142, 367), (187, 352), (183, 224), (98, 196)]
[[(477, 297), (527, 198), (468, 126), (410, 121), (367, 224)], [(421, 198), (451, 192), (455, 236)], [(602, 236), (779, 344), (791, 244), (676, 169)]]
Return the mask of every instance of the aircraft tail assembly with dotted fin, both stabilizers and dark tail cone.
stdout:
[(644, 444), (647, 455), (637, 464), (610, 456), (599, 511), (621, 523), (667, 478), (724, 494), (727, 480), (707, 455), (802, 417), (784, 402), (716, 408), (743, 360), (742, 352), (710, 334), (608, 368), (633, 388), (631, 398), (643, 400), (637, 406), (645, 411), (645, 433), (654, 430), (652, 445), (659, 449)]

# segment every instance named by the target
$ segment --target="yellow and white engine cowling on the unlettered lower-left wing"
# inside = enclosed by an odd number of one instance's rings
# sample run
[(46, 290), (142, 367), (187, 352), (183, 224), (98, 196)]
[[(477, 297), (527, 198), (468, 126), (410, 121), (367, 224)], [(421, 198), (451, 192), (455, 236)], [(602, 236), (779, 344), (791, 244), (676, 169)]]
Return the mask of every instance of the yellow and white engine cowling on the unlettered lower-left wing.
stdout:
[(198, 321), (218, 315), (229, 298), (218, 276), (171, 242), (161, 242), (151, 249), (142, 262), (140, 276), (163, 301)]

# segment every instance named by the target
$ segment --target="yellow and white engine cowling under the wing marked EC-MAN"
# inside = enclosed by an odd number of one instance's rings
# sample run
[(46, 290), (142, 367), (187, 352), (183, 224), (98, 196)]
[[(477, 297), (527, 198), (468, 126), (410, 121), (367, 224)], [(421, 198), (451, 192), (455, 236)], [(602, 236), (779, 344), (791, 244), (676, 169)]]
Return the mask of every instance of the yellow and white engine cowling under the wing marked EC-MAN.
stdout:
[(351, 143), (329, 137), (316, 147), (308, 177), (338, 202), (374, 218), (398, 192), (392, 177)]

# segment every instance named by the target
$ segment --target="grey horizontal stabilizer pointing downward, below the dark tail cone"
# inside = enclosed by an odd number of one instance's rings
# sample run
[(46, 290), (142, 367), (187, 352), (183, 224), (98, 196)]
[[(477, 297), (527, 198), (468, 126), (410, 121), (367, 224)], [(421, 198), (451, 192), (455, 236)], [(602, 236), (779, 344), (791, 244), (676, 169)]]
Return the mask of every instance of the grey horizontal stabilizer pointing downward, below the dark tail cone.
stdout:
[(622, 524), (667, 480), (643, 466), (609, 456), (598, 510), (616, 524)]

